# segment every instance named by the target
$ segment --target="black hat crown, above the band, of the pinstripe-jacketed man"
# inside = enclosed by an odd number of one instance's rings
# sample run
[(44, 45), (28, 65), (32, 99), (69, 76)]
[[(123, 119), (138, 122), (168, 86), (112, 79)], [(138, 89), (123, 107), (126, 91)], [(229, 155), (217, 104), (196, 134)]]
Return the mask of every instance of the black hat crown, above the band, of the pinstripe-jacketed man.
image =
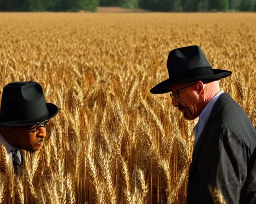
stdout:
[[(167, 69), (169, 78), (200, 67), (212, 68), (198, 45), (173, 49), (168, 55)], [(210, 71), (209, 74), (213, 75), (213, 72)]]

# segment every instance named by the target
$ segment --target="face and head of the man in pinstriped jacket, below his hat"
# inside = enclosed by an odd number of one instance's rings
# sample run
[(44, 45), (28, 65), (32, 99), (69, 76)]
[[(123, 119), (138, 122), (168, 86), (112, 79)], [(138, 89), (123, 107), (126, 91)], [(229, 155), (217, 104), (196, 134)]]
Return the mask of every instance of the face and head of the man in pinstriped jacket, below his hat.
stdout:
[[(186, 86), (189, 87), (180, 90), (181, 88), (184, 88)], [(172, 98), (173, 106), (178, 107), (178, 109), (183, 112), (184, 118), (188, 120), (194, 120), (201, 114), (208, 102), (218, 92), (220, 92), (220, 80), (187, 82), (171, 86), (170, 89), (172, 92), (180, 90), (179, 98)]]

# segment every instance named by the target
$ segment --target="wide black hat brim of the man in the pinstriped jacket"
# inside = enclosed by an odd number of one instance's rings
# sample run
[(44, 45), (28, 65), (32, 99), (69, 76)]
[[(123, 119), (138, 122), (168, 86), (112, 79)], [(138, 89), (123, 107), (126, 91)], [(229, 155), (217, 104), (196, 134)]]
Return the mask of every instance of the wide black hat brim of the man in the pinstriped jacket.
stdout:
[(204, 77), (195, 77), (195, 78), (187, 78), (184, 80), (178, 80), (178, 81), (173, 81), (170, 79), (166, 79), (156, 86), (154, 86), (151, 90), (150, 93), (152, 94), (165, 94), (170, 92), (170, 86), (174, 84), (179, 84), (179, 83), (185, 83), (185, 82), (192, 82), (192, 81), (199, 81), (199, 80), (208, 80), (208, 79), (220, 79), (220, 78), (225, 78), (228, 77), (232, 74), (231, 71), (223, 70), (223, 69), (212, 69), (214, 75), (211, 76), (204, 76)]

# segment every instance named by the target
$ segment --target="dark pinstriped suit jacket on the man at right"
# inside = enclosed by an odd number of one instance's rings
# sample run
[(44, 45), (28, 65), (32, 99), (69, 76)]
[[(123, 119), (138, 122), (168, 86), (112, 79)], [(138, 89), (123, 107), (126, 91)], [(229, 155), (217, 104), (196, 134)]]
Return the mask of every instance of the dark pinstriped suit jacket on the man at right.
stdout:
[(256, 129), (242, 107), (223, 93), (198, 139), (188, 179), (188, 204), (256, 204)]

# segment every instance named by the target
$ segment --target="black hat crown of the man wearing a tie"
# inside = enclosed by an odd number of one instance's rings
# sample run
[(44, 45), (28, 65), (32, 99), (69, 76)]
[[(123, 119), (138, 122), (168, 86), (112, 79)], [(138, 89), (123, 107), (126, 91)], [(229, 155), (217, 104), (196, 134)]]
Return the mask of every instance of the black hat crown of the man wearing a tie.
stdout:
[(1, 120), (33, 120), (46, 114), (46, 100), (38, 82), (11, 82), (4, 87)]

